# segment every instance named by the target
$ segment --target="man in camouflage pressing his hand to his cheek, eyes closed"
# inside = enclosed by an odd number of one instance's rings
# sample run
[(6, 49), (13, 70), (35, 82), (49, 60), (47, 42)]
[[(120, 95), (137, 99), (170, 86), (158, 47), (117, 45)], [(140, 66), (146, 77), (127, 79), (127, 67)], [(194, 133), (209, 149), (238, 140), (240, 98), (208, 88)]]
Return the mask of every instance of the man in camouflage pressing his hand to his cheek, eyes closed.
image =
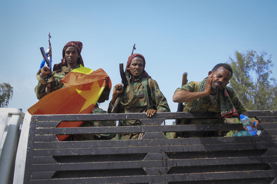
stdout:
[[(224, 118), (227, 117), (239, 117), (240, 114), (248, 116), (234, 90), (227, 86), (232, 75), (232, 68), (228, 64), (220, 63), (217, 64), (212, 71), (208, 72), (208, 77), (203, 81), (192, 81), (176, 89), (173, 95), (173, 101), (178, 103), (185, 102), (184, 112), (220, 112), (222, 116), (216, 119), (190, 119), (186, 120), (185, 124), (220, 124), (224, 123)], [(189, 102), (192, 102), (190, 107), (186, 107)], [(254, 127), (254, 121), (257, 122), (255, 127), (258, 126), (257, 120), (251, 121), (252, 127)], [(184, 137), (203, 136), (223, 136), (223, 133), (221, 131), (206, 131), (205, 133), (194, 132), (193, 134), (184, 135)]]

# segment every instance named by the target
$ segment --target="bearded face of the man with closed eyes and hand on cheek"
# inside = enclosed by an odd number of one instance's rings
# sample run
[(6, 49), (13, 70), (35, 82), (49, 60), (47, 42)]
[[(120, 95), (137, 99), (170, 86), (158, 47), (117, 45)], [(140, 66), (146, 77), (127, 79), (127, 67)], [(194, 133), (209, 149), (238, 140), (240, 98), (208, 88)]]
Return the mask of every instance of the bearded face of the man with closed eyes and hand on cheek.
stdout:
[[(212, 72), (211, 72), (212, 73)], [(212, 73), (212, 89), (223, 89), (229, 83), (231, 79), (231, 72), (220, 66), (214, 73)]]

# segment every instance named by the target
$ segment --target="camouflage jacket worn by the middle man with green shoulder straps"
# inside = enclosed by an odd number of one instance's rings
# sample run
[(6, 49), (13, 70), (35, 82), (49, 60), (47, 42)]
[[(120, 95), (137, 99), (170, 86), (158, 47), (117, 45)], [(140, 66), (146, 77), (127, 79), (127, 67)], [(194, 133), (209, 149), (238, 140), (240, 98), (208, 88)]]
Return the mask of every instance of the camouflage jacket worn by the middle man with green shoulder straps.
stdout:
[[(146, 95), (144, 91), (144, 87), (142, 85), (142, 77), (135, 81), (130, 81), (134, 92), (137, 96), (137, 99), (134, 101), (132, 106), (123, 106), (119, 104), (116, 107), (115, 112), (117, 113), (137, 113), (137, 112), (146, 112), (147, 111), (147, 103), (146, 103)], [(167, 104), (166, 98), (162, 94), (159, 89), (157, 82), (151, 78), (147, 78), (147, 93), (149, 99), (149, 109), (155, 109), (160, 112), (170, 112), (169, 105)], [(122, 102), (126, 104), (130, 99), (132, 99), (132, 92), (130, 91), (130, 87), (126, 84), (125, 90), (123, 91), (122, 95)], [(112, 110), (112, 101), (108, 107), (108, 113), (111, 113)], [(140, 122), (137, 120), (130, 120), (130, 121), (122, 121), (124, 126), (126, 125), (135, 125), (139, 124)]]

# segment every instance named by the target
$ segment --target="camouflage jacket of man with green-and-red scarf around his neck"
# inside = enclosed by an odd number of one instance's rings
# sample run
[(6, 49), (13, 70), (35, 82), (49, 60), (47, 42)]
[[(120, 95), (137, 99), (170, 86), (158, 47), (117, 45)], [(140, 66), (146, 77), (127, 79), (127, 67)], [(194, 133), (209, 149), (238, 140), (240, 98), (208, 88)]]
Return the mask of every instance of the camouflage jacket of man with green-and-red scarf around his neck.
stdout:
[[(199, 83), (199, 82), (197, 82), (197, 83)], [(174, 93), (176, 93), (177, 91), (180, 91), (180, 90), (186, 90), (189, 92), (193, 92), (194, 88), (195, 88), (195, 86), (190, 82), (181, 88), (177, 88)], [(234, 90), (231, 87), (226, 86), (226, 89), (230, 96), (231, 101), (233, 102), (233, 104), (237, 110), (237, 113), (241, 114), (243, 111), (245, 111), (243, 104), (238, 100), (237, 95), (235, 94)], [(216, 94), (216, 98), (219, 99), (218, 94)], [(186, 103), (185, 103), (185, 105), (186, 105)], [(208, 95), (205, 97), (203, 105), (201, 106), (201, 108), (199, 108), (197, 110), (197, 112), (220, 112), (220, 101), (215, 100), (214, 102), (212, 102)], [(218, 123), (224, 123), (224, 118), (192, 119), (190, 121), (190, 124), (218, 124)]]

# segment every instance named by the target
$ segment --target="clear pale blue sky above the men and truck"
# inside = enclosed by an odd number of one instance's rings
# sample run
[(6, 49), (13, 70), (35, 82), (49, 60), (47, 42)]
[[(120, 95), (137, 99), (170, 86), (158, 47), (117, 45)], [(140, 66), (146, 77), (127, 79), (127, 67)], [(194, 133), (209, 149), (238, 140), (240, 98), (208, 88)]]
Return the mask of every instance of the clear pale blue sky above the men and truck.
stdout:
[[(8, 107), (24, 112), (35, 104), (42, 56), (52, 36), (53, 64), (69, 41), (81, 41), (85, 67), (103, 68), (112, 85), (121, 82), (132, 46), (145, 57), (145, 70), (158, 82), (172, 112), (172, 95), (189, 81), (205, 78), (234, 52), (272, 54), (276, 74), (277, 1), (1, 1), (0, 83), (14, 87)], [(112, 95), (112, 94), (111, 94)], [(111, 99), (111, 96), (110, 96)], [(104, 110), (108, 101), (102, 103)]]

